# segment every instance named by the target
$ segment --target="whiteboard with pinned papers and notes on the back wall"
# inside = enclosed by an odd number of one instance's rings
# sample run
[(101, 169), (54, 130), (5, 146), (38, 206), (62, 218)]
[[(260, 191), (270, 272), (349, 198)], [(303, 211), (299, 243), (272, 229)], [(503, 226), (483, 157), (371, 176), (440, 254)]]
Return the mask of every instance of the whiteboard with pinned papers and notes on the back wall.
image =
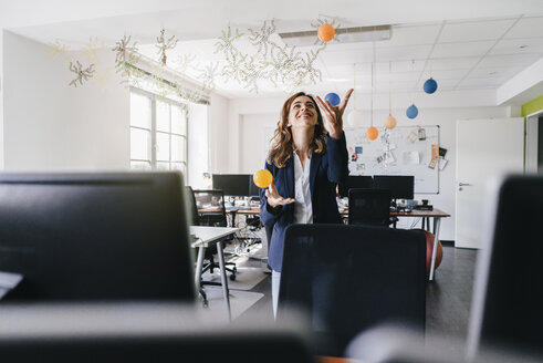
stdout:
[(439, 167), (430, 168), (431, 145), (439, 145), (439, 125), (379, 129), (370, 141), (365, 127), (345, 128), (349, 175), (413, 175), (415, 193), (439, 193)]

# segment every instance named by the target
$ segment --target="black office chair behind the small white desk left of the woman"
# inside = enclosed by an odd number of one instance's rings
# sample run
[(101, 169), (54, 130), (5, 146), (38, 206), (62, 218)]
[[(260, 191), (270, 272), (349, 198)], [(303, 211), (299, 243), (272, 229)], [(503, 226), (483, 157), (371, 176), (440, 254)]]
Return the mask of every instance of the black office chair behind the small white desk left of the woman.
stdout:
[[(212, 227), (227, 227), (227, 215), (224, 209), (224, 196), (221, 190), (194, 190), (190, 186), (187, 186), (188, 199), (191, 203), (190, 209), (192, 210), (192, 226), (212, 226)], [(198, 206), (202, 209), (217, 209), (213, 211), (199, 212)], [(203, 259), (207, 261), (201, 270), (201, 273), (209, 271), (213, 273), (215, 269), (219, 269), (219, 262), (215, 261), (215, 255), (217, 255), (217, 246), (212, 245), (206, 249)], [(230, 266), (230, 267), (229, 267)], [(230, 280), (236, 280), (236, 273), (238, 268), (234, 262), (224, 262), (224, 269), (230, 272)], [(208, 304), (207, 294), (202, 286), (221, 286), (216, 281), (200, 280), (200, 294), (203, 298), (203, 305)]]

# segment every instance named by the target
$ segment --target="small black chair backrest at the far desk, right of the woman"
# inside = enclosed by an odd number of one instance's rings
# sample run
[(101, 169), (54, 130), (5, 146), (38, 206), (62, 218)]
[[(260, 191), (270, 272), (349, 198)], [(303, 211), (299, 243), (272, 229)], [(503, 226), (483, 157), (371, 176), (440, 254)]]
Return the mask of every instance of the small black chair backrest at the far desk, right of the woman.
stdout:
[(390, 190), (354, 188), (348, 190), (348, 224), (390, 225)]

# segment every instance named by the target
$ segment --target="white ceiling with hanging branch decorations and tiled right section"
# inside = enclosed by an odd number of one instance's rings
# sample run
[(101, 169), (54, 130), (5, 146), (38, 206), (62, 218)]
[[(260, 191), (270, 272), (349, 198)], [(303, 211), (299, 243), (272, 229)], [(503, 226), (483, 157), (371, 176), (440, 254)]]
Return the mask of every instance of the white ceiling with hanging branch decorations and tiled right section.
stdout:
[[(390, 6), (390, 1), (384, 2)], [(358, 7), (354, 2), (351, 4), (351, 8)], [(466, 7), (463, 12), (457, 11), (458, 9), (449, 10), (450, 19), (442, 12), (435, 11), (435, 20), (431, 20), (431, 11), (421, 11), (424, 15), (418, 19), (413, 15), (401, 17), (398, 11), (408, 11), (408, 8), (403, 7), (396, 9), (397, 11), (390, 11), (389, 20), (394, 20), (394, 23), (387, 21), (385, 13), (374, 15), (374, 19), (364, 19), (359, 12), (354, 11), (356, 9), (352, 9), (352, 13), (356, 14), (352, 18), (348, 17), (348, 7), (337, 11), (340, 15), (334, 18), (340, 28), (390, 24), (391, 38), (386, 41), (351, 43), (342, 41), (338, 37), (327, 44), (315, 61), (315, 66), (322, 72), (322, 82), (304, 89), (320, 94), (336, 92), (340, 95), (353, 86), (361, 93), (370, 93), (373, 89), (375, 93), (388, 93), (390, 90), (393, 93), (413, 94), (421, 92), (422, 83), (430, 76), (438, 82), (440, 91), (497, 89), (543, 58), (541, 4), (535, 7), (535, 12), (526, 12), (524, 7), (518, 10), (505, 9), (501, 13)], [(265, 20), (274, 19), (276, 32), (307, 31), (314, 30), (312, 23), (317, 19), (332, 18), (316, 13), (315, 9), (303, 12), (303, 8), (300, 8), (300, 13), (289, 12), (289, 15), (283, 18), (278, 18), (276, 12), (267, 9), (260, 9), (259, 12), (259, 9), (254, 8), (249, 9), (243, 15), (244, 8), (241, 1), (233, 1), (228, 8), (228, 14), (221, 14), (224, 9), (208, 6), (203, 9), (208, 17), (202, 18), (199, 18), (202, 9), (198, 9), (192, 17), (188, 9), (182, 15), (177, 12), (139, 13), (122, 18), (24, 27), (13, 31), (44, 43), (59, 41), (74, 45), (82, 45), (90, 37), (97, 37), (108, 46), (123, 34), (129, 34), (133, 40), (138, 41), (139, 52), (148, 58), (158, 59), (154, 42), (164, 27), (166, 37), (176, 34), (181, 39), (174, 50), (168, 51), (168, 65), (176, 68), (176, 60), (184, 54), (190, 54), (195, 56), (191, 65), (201, 69), (210, 62), (223, 63), (221, 54), (215, 53), (215, 44), (228, 25), (247, 33), (248, 29), (259, 30)], [(330, 4), (323, 9), (323, 12), (334, 13)], [(508, 14), (509, 12), (511, 14)], [(482, 13), (494, 15), (480, 17)], [(184, 25), (182, 21), (176, 22), (176, 14), (180, 17), (177, 19), (191, 18), (191, 27)], [(401, 22), (403, 20), (405, 22)], [(200, 25), (195, 24), (195, 21), (199, 21)], [(279, 37), (274, 40), (281, 44)], [(254, 46), (248, 42), (240, 42), (239, 48), (248, 53), (255, 52)], [(316, 46), (299, 48), (302, 52), (315, 49)], [(372, 82), (373, 66), (375, 73)], [(187, 74), (197, 77), (198, 72), (189, 68)], [(218, 93), (231, 98), (270, 96), (284, 92), (280, 86), (261, 81), (257, 94), (244, 89), (244, 84), (236, 81), (224, 82), (220, 76), (216, 77), (216, 86)]]

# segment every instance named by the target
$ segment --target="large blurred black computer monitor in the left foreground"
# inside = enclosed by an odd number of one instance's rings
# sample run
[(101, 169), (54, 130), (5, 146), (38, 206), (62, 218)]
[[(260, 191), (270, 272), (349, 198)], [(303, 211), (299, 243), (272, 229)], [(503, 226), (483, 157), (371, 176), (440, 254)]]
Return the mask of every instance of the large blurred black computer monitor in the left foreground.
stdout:
[(18, 302), (195, 301), (179, 173), (0, 174)]

